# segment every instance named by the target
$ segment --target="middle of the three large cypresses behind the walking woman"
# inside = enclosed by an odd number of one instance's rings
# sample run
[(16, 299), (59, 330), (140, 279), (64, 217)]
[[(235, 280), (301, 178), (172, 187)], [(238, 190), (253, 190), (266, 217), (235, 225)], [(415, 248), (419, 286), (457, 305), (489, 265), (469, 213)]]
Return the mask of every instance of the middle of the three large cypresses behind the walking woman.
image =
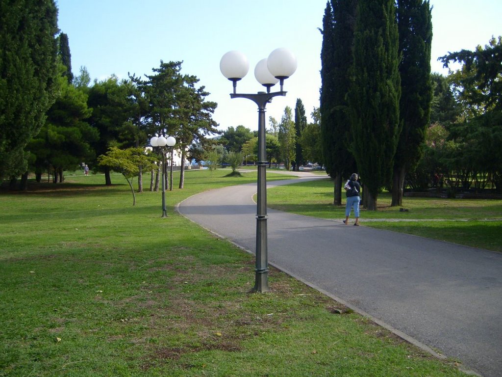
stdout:
[(379, 189), (390, 182), (401, 131), (399, 36), (394, 0), (359, 0), (348, 93), (351, 150), (366, 204), (376, 210)]

